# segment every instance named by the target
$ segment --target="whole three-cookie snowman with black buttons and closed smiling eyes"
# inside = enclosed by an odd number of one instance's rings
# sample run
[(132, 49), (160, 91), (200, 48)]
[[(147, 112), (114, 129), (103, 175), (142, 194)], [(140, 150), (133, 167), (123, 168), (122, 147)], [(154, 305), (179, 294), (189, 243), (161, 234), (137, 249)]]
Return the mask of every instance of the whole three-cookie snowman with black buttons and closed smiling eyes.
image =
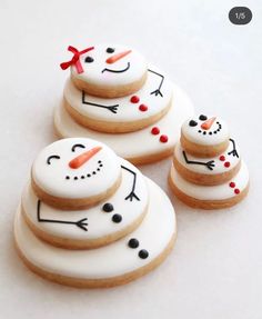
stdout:
[(175, 238), (167, 195), (105, 144), (69, 138), (32, 165), (14, 220), (36, 273), (74, 287), (127, 283), (155, 268)]

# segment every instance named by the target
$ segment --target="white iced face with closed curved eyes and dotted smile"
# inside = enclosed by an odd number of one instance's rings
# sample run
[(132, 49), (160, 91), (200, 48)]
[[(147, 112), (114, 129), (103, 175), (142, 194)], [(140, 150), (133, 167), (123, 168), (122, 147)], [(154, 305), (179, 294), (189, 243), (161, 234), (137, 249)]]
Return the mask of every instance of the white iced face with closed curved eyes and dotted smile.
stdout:
[(91, 139), (59, 140), (44, 148), (32, 166), (34, 182), (60, 198), (89, 198), (118, 180), (121, 167), (115, 153)]

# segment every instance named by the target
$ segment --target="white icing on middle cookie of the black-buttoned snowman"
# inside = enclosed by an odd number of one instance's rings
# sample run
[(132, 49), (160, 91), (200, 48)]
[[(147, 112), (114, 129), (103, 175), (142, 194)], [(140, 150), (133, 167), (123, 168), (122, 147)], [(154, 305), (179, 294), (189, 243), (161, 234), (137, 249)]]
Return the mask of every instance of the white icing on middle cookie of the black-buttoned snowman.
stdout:
[[(63, 239), (95, 240), (124, 230), (145, 212), (149, 193), (145, 178), (142, 173), (130, 162), (122, 159), (121, 166), (135, 173), (134, 193), (139, 200), (135, 198), (132, 198), (132, 201), (125, 199), (132, 191), (134, 176), (132, 172), (122, 169), (121, 185), (111, 198), (89, 209), (73, 211), (64, 211), (41, 202), (39, 213), (42, 221), (39, 221), (38, 218), (39, 198), (29, 183), (24, 188), (22, 195), (24, 213), (41, 231)], [(113, 211), (103, 211), (104, 203), (111, 203), (113, 206)], [(112, 221), (112, 216), (114, 213), (121, 215), (121, 222), (115, 223)], [(83, 219), (85, 219), (83, 222), (88, 223), (85, 227), (87, 231), (73, 223), (50, 222), (51, 220), (75, 222)], [(49, 220), (49, 222), (44, 222), (43, 220)]]

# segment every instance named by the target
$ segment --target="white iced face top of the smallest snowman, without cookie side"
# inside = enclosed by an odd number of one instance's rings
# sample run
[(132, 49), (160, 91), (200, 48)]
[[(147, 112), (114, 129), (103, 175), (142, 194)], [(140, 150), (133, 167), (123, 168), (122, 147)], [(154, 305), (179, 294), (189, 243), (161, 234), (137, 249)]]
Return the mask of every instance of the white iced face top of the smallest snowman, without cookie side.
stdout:
[(226, 123), (218, 117), (204, 114), (187, 120), (182, 126), (182, 133), (198, 144), (219, 144), (229, 139)]

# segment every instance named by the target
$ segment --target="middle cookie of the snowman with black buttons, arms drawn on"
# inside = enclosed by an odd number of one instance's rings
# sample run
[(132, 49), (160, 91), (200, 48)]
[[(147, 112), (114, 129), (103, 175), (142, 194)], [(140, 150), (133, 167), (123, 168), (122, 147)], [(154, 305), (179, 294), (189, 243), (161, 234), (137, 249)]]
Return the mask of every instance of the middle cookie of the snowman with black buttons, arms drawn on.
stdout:
[(113, 196), (82, 210), (61, 210), (42, 202), (28, 183), (21, 208), (31, 230), (42, 240), (67, 249), (108, 245), (133, 231), (148, 211), (145, 178), (121, 159), (122, 180)]

